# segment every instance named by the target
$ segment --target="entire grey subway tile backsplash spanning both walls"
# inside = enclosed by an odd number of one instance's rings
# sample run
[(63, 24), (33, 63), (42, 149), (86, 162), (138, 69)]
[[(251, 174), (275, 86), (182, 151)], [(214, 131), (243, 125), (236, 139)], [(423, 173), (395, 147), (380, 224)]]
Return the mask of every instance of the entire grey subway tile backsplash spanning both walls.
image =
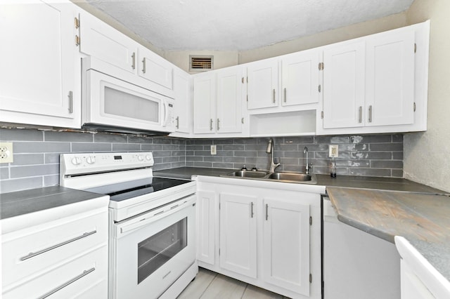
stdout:
[[(267, 169), (269, 138), (183, 139), (111, 133), (0, 128), (13, 142), (14, 162), (0, 164), (0, 193), (58, 185), (59, 154), (67, 152), (153, 152), (154, 170), (195, 166)], [(210, 146), (217, 145), (217, 154)], [(403, 176), (403, 135), (340, 135), (274, 138), (277, 170), (304, 171), (308, 148), (312, 173), (329, 173), (328, 145), (339, 145), (338, 175)]]

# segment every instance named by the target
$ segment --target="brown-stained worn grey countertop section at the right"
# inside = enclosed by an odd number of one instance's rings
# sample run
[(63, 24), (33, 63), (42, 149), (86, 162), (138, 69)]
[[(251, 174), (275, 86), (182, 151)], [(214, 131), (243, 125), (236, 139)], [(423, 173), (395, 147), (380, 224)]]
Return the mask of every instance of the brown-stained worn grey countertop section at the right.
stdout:
[(450, 281), (450, 197), (327, 187), (341, 222), (394, 243), (405, 237)]

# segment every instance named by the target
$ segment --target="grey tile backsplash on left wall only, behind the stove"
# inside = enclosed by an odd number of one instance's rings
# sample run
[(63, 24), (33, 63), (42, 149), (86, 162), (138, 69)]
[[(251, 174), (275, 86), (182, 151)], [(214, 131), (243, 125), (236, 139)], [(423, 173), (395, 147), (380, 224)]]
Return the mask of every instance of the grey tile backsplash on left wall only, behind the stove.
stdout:
[(155, 170), (186, 164), (186, 140), (108, 133), (0, 128), (13, 142), (14, 162), (0, 164), (0, 193), (58, 185), (59, 154), (67, 152), (153, 152)]

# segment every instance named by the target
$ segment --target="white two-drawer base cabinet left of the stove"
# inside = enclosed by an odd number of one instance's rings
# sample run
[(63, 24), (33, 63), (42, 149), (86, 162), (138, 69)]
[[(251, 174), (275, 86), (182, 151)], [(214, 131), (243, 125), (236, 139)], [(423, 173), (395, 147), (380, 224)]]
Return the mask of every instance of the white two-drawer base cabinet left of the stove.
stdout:
[(107, 206), (2, 234), (1, 247), (4, 299), (108, 297)]

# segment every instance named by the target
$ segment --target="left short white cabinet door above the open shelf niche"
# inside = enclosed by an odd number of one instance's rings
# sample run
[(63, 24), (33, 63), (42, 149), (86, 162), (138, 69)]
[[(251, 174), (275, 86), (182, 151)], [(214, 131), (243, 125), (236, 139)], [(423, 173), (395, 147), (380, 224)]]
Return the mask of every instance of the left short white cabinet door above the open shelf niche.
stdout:
[(248, 109), (278, 106), (278, 62), (252, 62), (248, 74)]

